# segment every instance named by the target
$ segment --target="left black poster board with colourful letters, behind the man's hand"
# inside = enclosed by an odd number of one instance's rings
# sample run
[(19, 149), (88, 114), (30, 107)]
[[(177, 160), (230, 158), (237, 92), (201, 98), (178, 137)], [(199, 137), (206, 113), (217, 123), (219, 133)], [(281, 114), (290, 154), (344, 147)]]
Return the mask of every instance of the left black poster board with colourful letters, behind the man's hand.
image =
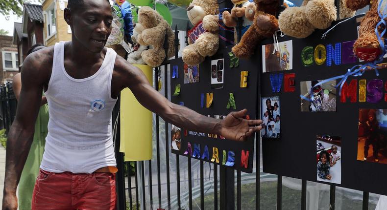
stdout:
[[(255, 82), (259, 72), (252, 67), (252, 62), (235, 66), (230, 59), (230, 55), (233, 57), (230, 50), (220, 52), (223, 54), (206, 59), (197, 66), (188, 65), (181, 58), (170, 60), (171, 101), (216, 119), (224, 119), (228, 113), (246, 108), (245, 117), (256, 119)], [(217, 134), (171, 125), (170, 147), (172, 153), (252, 172), (254, 136), (244, 142), (232, 141)]]

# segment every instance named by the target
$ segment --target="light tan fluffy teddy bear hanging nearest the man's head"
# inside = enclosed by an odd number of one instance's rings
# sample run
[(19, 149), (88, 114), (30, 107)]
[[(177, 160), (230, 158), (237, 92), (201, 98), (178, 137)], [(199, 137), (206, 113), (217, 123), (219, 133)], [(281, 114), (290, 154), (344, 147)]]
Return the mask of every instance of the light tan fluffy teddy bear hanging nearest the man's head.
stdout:
[[(168, 22), (164, 20), (156, 10), (143, 6), (138, 12), (138, 36), (136, 41), (144, 46), (151, 46), (151, 49), (141, 53), (144, 62), (152, 67), (159, 66), (167, 58), (173, 57), (175, 53), (174, 34)], [(168, 53), (165, 54), (164, 41), (168, 37)]]

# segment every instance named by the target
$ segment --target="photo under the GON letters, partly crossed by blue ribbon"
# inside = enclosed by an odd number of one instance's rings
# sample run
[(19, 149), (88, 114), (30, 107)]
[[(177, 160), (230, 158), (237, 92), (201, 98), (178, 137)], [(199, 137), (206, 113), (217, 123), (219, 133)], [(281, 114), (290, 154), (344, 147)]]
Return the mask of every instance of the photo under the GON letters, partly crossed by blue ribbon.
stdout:
[[(301, 111), (336, 111), (336, 80), (317, 85), (321, 80), (300, 83), (301, 95), (312, 101), (301, 99)], [(314, 87), (315, 86), (315, 87)]]

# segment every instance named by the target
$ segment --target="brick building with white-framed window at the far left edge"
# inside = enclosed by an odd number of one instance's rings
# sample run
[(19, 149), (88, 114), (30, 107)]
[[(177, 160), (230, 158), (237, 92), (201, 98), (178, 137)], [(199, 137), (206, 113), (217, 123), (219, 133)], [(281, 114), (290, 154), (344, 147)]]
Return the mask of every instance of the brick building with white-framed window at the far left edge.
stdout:
[(12, 81), (13, 76), (19, 72), (18, 48), (12, 40), (11, 36), (0, 36), (1, 84)]

